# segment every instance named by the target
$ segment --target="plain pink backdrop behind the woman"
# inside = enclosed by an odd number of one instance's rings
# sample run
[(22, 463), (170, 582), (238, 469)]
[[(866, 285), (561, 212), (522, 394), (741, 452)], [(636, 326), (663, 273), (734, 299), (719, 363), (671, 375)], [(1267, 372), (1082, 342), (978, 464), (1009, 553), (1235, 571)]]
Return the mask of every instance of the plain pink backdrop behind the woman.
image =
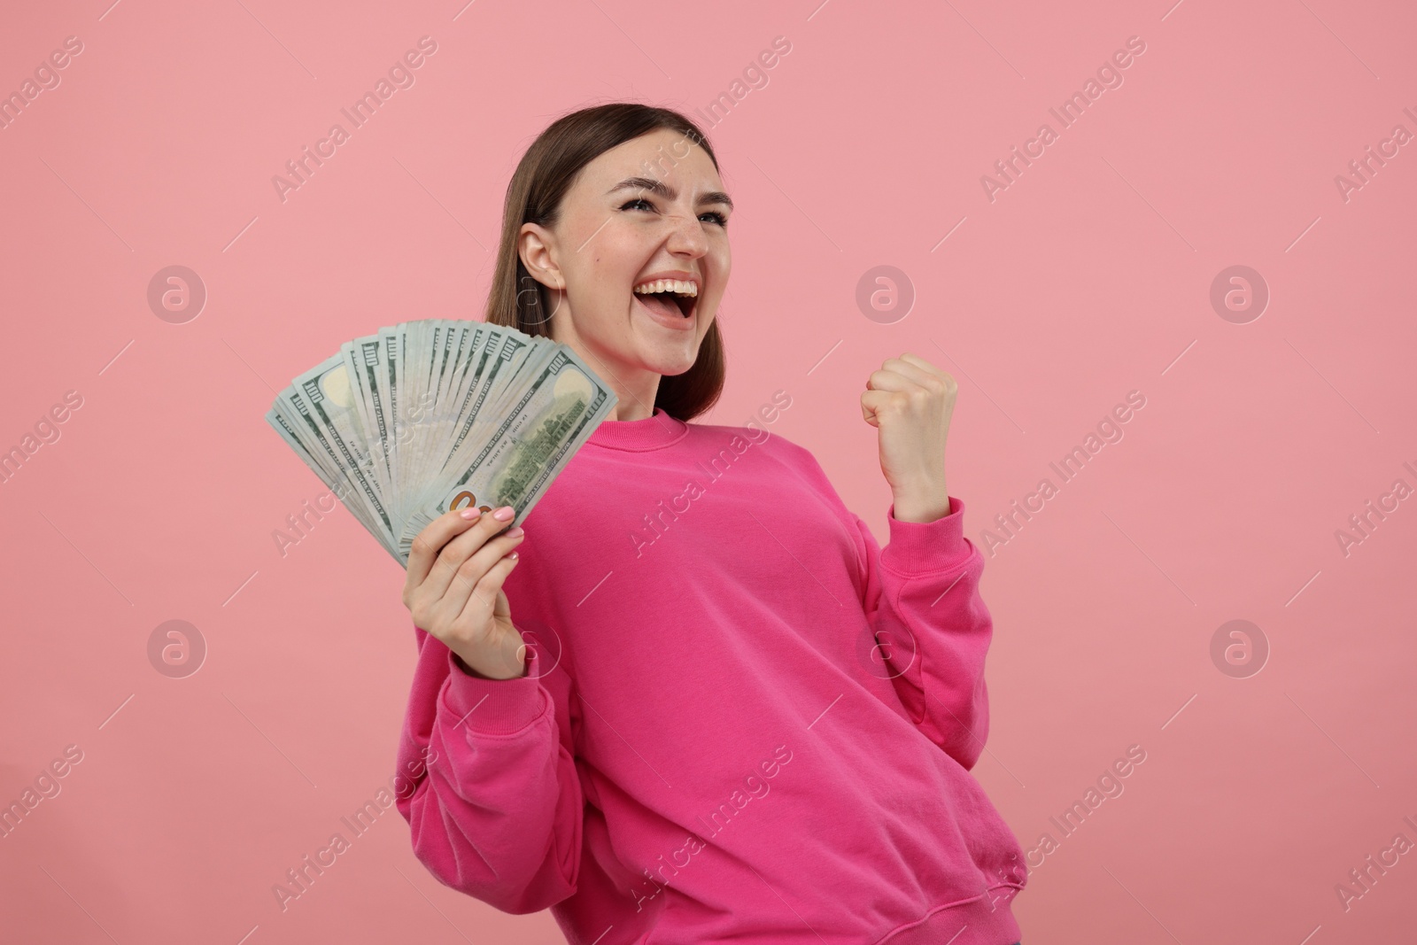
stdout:
[[(774, 432), (884, 540), (857, 398), (915, 351), (959, 381), (949, 486), (982, 547), (1146, 398), (985, 568), (975, 774), (1023, 846), (1146, 751), (1033, 871), (1023, 941), (1410, 936), (1417, 854), (1348, 911), (1335, 884), (1417, 840), (1417, 500), (1348, 555), (1335, 531), (1417, 486), (1417, 146), (1348, 201), (1335, 176), (1417, 133), (1417, 14), (1170, 1), (11, 4), (0, 91), (84, 51), (0, 130), (0, 448), (84, 404), (0, 485), (0, 803), (84, 759), (0, 839), (0, 938), (563, 941), (442, 887), (394, 810), (276, 905), (394, 774), (415, 650), (402, 571), (344, 510), (279, 553), (324, 489), (262, 417), (350, 337), (480, 317), (503, 188), (554, 116), (703, 108), (777, 35), (769, 84), (708, 129), (738, 213), (707, 422), (788, 391)], [(282, 203), (271, 177), (422, 35), (415, 85)], [(1124, 85), (1060, 130), (1047, 109), (1132, 35)], [(981, 176), (1041, 122), (1058, 140), (990, 203)], [(146, 300), (169, 265), (207, 286), (184, 324)], [(877, 265), (917, 293), (888, 324), (854, 302)], [(1233, 265), (1271, 293), (1246, 324), (1209, 299)], [(186, 679), (147, 659), (169, 619), (208, 646)], [(1268, 640), (1258, 674), (1212, 660), (1231, 619)]]

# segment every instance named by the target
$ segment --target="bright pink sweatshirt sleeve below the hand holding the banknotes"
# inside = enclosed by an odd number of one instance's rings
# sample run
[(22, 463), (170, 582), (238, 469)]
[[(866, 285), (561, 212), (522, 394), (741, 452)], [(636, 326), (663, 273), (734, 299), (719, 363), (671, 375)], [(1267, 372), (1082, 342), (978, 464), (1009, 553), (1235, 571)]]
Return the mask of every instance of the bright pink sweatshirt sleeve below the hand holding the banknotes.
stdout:
[(568, 674), (478, 679), (414, 629), (397, 791), (414, 854), (445, 885), (503, 912), (560, 902), (575, 893), (584, 825)]

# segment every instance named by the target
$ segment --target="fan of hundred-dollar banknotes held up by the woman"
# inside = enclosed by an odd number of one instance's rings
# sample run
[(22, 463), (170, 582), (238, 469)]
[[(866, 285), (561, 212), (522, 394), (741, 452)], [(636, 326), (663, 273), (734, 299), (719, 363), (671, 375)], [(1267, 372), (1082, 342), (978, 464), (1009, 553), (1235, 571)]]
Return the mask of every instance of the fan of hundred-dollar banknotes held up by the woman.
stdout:
[(281, 391), (266, 421), (407, 565), (451, 509), (526, 519), (615, 402), (565, 344), (425, 319), (347, 341)]

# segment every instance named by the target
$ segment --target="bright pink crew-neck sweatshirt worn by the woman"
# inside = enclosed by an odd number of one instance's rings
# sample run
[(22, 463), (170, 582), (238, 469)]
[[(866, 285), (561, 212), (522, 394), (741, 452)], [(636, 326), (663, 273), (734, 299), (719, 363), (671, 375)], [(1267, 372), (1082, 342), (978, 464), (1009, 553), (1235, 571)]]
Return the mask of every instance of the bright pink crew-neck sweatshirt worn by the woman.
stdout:
[(1012, 945), (1027, 870), (969, 774), (993, 623), (951, 502), (881, 551), (781, 436), (601, 424), (506, 582), (529, 676), (414, 630), (415, 854), (572, 945)]

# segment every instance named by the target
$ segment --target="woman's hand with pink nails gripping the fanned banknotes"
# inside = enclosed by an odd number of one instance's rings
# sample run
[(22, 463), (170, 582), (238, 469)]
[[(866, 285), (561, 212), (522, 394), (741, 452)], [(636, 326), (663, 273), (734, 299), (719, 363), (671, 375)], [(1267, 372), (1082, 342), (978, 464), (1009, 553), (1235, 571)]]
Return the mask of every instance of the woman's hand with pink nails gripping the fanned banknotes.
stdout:
[(526, 672), (527, 647), (512, 625), (512, 606), (502, 591), (517, 564), (513, 548), (526, 533), (519, 527), (497, 534), (514, 514), (512, 506), (490, 513), (444, 513), (418, 533), (408, 554), (404, 606), (414, 625), (489, 679)]

